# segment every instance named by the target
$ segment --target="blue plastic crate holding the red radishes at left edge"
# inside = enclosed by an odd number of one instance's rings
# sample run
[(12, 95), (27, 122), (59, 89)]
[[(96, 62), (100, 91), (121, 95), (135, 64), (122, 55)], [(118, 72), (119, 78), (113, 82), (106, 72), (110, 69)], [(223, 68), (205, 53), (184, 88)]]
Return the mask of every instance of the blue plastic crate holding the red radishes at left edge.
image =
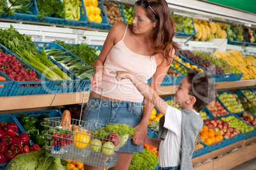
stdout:
[[(31, 67), (28, 63), (21, 60), (17, 55), (11, 53), (5, 46), (0, 44), (0, 48), (3, 49), (6, 55), (10, 54), (16, 57), (20, 63), (22, 63), (25, 69), (35, 70)], [(48, 94), (49, 91), (47, 89), (49, 81), (45, 77), (45, 75), (35, 70), (36, 75), (38, 75), (38, 79), (41, 81), (14, 81), (13, 79), (9, 79), (12, 82), (12, 86), (9, 86), (10, 92), (5, 94), (6, 96), (21, 96), (21, 95), (41, 95), (41, 94)], [(1, 75), (6, 75), (2, 71), (0, 71)], [(7, 75), (6, 75), (7, 76)], [(9, 84), (10, 85), (10, 84)]]

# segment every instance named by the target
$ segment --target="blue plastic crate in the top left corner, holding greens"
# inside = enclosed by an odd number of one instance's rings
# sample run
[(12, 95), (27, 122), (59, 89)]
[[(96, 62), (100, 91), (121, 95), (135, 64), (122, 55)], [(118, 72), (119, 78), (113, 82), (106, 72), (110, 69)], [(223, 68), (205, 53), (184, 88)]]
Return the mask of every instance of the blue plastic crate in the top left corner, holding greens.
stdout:
[(25, 21), (25, 22), (34, 22), (34, 18), (38, 15), (38, 4), (36, 3), (36, 0), (31, 0), (32, 5), (29, 7), (29, 11), (32, 12), (32, 14), (28, 13), (15, 13), (14, 15), (7, 16), (7, 13), (5, 13), (2, 18), (7, 20), (18, 20), (18, 21)]

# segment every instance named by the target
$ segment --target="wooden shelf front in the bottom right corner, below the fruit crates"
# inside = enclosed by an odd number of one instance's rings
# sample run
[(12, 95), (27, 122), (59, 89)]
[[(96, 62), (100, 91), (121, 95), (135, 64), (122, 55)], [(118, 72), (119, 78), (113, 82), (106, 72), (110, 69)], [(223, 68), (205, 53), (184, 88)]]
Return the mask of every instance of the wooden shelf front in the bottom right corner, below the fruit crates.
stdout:
[(232, 169), (256, 157), (256, 136), (192, 159), (195, 170)]

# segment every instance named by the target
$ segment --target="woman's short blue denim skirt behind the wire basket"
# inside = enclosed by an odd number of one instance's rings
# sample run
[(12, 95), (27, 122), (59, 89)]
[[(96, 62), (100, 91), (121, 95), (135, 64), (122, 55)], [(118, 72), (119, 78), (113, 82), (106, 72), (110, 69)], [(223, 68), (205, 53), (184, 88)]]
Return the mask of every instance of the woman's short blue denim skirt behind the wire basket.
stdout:
[[(134, 127), (141, 121), (141, 106), (142, 103), (111, 101), (90, 96), (83, 112), (83, 121), (97, 123), (101, 126), (119, 123)], [(99, 128), (100, 126), (96, 129)], [(122, 147), (122, 152), (136, 153), (142, 151), (143, 145), (133, 144), (132, 139), (128, 139), (126, 145)]]

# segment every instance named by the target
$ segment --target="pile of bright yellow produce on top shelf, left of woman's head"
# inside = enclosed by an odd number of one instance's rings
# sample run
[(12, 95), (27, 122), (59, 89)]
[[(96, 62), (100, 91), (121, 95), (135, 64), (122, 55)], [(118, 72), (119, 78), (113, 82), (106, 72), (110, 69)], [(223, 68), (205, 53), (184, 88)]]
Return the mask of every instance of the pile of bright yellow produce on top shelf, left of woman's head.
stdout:
[(87, 18), (90, 22), (101, 23), (103, 18), (101, 18), (101, 8), (98, 7), (97, 0), (84, 0), (85, 10)]

